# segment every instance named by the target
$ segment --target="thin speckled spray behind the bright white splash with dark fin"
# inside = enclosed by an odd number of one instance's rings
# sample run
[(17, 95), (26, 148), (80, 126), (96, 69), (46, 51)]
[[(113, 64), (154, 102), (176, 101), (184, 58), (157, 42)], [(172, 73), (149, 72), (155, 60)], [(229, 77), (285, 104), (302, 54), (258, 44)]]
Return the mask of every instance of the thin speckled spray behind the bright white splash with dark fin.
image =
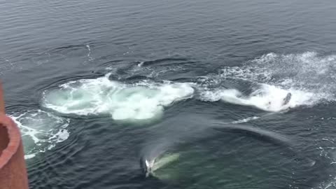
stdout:
[(243, 66), (225, 67), (220, 76), (332, 93), (336, 91), (336, 55), (320, 56), (316, 52), (288, 55), (269, 53)]

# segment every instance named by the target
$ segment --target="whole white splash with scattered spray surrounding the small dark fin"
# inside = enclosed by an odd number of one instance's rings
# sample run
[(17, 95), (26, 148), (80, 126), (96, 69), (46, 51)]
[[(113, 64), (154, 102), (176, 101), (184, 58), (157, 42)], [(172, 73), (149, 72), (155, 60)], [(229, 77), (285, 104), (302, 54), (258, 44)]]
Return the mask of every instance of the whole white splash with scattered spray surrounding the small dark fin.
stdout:
[[(250, 82), (258, 85), (247, 96), (239, 90), (209, 88), (225, 80)], [(316, 52), (277, 55), (269, 53), (246, 62), (242, 66), (227, 66), (218, 75), (200, 80), (201, 99), (244, 106), (254, 106), (264, 111), (283, 111), (297, 106), (314, 105), (321, 101), (335, 101), (336, 55), (318, 56)], [(283, 99), (290, 92), (288, 104)]]

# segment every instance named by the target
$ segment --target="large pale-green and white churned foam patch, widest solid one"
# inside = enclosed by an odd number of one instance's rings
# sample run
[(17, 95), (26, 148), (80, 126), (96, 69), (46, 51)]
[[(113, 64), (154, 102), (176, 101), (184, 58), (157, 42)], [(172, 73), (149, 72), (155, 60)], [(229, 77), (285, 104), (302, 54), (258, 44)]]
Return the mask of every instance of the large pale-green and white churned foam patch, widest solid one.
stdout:
[(114, 120), (145, 120), (162, 114), (165, 106), (193, 97), (188, 83), (125, 84), (102, 78), (71, 81), (48, 90), (43, 106), (60, 113), (81, 116), (111, 114)]

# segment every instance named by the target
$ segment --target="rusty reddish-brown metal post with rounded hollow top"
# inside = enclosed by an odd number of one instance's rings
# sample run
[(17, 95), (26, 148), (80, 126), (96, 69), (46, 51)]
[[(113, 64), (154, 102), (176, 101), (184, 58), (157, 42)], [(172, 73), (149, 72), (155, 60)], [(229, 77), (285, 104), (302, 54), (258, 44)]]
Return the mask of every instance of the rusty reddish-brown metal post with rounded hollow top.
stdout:
[(0, 83), (0, 188), (28, 189), (25, 153), (18, 126), (5, 114)]

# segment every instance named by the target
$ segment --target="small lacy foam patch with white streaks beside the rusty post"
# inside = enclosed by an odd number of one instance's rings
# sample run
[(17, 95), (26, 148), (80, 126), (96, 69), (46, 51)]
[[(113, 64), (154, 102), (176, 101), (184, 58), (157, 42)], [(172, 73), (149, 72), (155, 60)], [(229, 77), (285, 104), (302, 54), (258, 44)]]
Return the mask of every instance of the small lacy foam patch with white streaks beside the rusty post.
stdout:
[(69, 120), (51, 113), (32, 110), (13, 113), (10, 118), (20, 128), (26, 160), (54, 148), (57, 143), (69, 138), (69, 132), (66, 130)]

